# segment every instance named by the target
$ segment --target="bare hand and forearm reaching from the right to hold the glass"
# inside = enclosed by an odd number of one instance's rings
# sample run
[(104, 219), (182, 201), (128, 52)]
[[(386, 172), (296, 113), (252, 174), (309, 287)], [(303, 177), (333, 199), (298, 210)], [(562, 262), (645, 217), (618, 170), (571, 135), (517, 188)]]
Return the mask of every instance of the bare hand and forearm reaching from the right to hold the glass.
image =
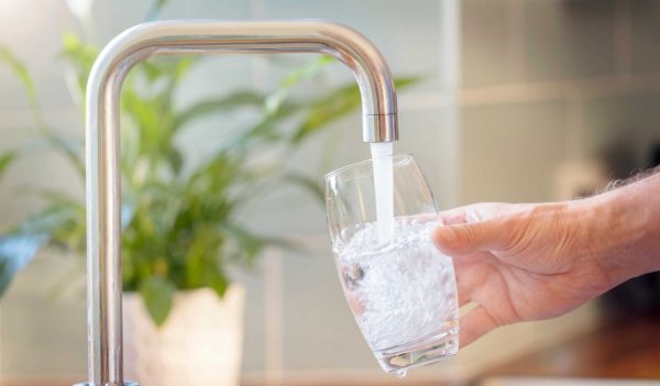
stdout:
[(463, 346), (488, 331), (549, 319), (660, 271), (660, 174), (591, 198), (477, 203), (440, 214), (438, 249), (453, 257)]

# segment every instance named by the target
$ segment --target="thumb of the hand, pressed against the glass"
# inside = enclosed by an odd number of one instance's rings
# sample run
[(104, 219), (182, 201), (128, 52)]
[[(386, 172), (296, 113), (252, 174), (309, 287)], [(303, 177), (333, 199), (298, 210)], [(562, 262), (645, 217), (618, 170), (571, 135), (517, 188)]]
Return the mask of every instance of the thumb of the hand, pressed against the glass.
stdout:
[(433, 242), (450, 256), (468, 255), (477, 251), (502, 250), (506, 246), (506, 227), (488, 220), (468, 224), (443, 225), (433, 231)]

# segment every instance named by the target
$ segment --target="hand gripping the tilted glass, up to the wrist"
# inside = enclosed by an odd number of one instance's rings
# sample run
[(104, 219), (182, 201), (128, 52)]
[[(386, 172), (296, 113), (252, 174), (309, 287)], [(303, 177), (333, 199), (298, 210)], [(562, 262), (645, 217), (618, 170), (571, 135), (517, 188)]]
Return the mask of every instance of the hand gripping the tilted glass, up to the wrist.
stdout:
[[(453, 257), (461, 345), (496, 327), (568, 312), (626, 277), (609, 264), (593, 202), (480, 203), (440, 214), (433, 239)], [(602, 213), (601, 213), (602, 214)]]

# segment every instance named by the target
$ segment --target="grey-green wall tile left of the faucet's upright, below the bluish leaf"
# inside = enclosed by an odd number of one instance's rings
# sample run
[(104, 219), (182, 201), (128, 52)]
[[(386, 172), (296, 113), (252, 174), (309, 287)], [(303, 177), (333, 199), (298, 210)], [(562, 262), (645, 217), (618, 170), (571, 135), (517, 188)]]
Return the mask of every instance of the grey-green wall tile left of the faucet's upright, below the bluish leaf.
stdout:
[[(3, 297), (3, 377), (87, 379), (85, 268), (82, 261), (66, 257), (42, 254)], [(62, 282), (65, 275), (68, 283)], [(56, 284), (66, 296), (48, 298)]]

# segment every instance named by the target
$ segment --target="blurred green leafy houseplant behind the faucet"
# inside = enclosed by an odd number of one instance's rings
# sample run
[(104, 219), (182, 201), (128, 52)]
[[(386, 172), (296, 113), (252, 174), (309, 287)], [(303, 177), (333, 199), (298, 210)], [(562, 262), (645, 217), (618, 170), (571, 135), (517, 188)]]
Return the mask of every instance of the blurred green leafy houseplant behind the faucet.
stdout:
[[(165, 2), (155, 1), (151, 15)], [(98, 52), (73, 33), (64, 36), (61, 56), (74, 70), (80, 97)], [(66, 156), (84, 178), (82, 139), (68, 137), (48, 124), (29, 70), (10, 49), (0, 49), (0, 60), (24, 85), (38, 133), (35, 141), (0, 154), (0, 175), (25, 152), (46, 145)], [(208, 287), (222, 297), (230, 283), (229, 265), (250, 266), (265, 246), (285, 246), (282, 240), (245, 229), (237, 219), (242, 206), (260, 198), (264, 186), (295, 184), (320, 196), (317, 180), (283, 165), (307, 140), (360, 106), (352, 84), (311, 99), (293, 98), (297, 85), (318, 76), (332, 60), (320, 57), (296, 68), (273, 92), (239, 90), (183, 109), (175, 108), (174, 98), (200, 59), (150, 60), (131, 71), (121, 98), (123, 287), (141, 294), (156, 324), (166, 320), (176, 290)], [(415, 77), (399, 78), (397, 87), (415, 81)], [(260, 120), (235, 130), (204, 159), (190, 162), (177, 137), (186, 135), (195, 120), (234, 109), (248, 110)], [(278, 150), (279, 163), (251, 162), (266, 147)], [(41, 249), (85, 255), (85, 206), (79, 197), (38, 186), (30, 192), (38, 195), (44, 206), (0, 236), (0, 295)]]

